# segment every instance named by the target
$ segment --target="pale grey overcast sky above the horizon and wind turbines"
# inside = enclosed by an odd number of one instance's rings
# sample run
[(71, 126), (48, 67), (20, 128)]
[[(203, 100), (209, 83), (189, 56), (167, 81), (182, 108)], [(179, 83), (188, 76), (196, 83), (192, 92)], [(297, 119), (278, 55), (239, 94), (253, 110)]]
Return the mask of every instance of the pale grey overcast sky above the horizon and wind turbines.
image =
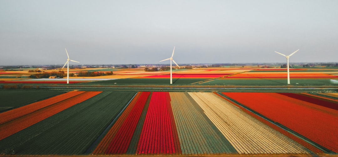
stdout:
[[(338, 62), (338, 0), (0, 0), (0, 65)], [(165, 61), (168, 64), (169, 61)], [(78, 63), (71, 63), (77, 65)]]

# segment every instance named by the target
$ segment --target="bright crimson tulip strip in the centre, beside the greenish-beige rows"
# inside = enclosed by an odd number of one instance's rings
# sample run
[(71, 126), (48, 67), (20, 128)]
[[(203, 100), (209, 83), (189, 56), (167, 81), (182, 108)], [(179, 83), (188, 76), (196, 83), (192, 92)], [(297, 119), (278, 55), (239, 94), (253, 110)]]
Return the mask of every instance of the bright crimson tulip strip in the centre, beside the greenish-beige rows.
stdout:
[(168, 92), (153, 92), (137, 154), (181, 154)]

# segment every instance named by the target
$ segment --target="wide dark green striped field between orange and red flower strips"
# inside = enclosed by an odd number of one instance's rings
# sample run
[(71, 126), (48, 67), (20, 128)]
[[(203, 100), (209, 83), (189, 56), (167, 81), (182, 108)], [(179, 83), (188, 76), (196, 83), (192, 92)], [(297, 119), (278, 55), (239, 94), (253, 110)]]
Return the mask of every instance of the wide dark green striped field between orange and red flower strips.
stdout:
[[(135, 92), (103, 92), (1, 140), (0, 154), (85, 154)], [(48, 140), (46, 140), (48, 139)]]

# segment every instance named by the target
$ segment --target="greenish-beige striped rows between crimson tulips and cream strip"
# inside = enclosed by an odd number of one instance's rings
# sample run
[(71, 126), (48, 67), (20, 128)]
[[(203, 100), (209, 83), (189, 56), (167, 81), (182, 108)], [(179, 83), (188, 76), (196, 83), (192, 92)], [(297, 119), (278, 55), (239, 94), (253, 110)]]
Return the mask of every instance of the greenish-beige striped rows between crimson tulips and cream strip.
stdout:
[(182, 154), (237, 153), (188, 93), (170, 92)]

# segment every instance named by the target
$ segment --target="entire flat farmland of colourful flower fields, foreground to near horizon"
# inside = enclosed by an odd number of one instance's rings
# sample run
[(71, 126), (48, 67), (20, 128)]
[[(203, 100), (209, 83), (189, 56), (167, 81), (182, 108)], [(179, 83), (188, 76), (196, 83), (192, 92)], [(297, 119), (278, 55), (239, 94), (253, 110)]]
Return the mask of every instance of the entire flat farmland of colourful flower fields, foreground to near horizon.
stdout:
[[(0, 78), (3, 89), (43, 88), (0, 90), (1, 107), (6, 109), (0, 113), (0, 154), (338, 153), (336, 69), (291, 69), (291, 85), (286, 84), (286, 69), (281, 68), (175, 69), (172, 85), (169, 70), (113, 72), (109, 76), (72, 77), (69, 85), (64, 79)], [(234, 92), (248, 87), (252, 87), (250, 93)], [(332, 92), (314, 93), (321, 87)], [(298, 88), (309, 88), (311, 93), (297, 92)], [(168, 92), (170, 89), (173, 92)], [(282, 93), (281, 89), (288, 91)]]

